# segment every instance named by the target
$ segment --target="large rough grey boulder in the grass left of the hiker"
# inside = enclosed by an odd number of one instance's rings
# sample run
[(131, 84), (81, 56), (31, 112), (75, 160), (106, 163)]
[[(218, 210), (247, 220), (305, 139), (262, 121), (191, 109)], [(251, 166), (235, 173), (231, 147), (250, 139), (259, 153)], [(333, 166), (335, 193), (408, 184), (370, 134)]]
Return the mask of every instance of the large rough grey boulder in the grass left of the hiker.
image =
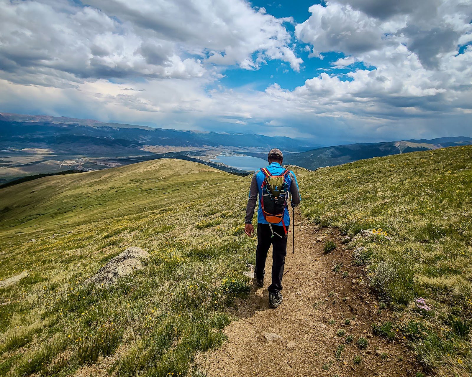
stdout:
[(111, 258), (98, 272), (85, 280), (85, 283), (110, 285), (122, 276), (129, 275), (143, 268), (144, 260), (151, 255), (140, 247), (128, 247), (123, 253)]

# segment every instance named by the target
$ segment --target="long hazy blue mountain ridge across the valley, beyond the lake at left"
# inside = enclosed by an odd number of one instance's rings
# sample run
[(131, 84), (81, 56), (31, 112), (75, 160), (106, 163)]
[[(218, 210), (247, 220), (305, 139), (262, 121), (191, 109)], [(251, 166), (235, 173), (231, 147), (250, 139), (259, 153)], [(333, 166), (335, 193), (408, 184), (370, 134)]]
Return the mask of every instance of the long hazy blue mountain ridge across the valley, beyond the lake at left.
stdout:
[(47, 148), (55, 153), (74, 150), (84, 154), (91, 151), (110, 154), (115, 151), (136, 155), (158, 152), (154, 147), (267, 150), (274, 146), (301, 152), (315, 147), (312, 142), (285, 136), (178, 131), (92, 119), (9, 113), (0, 114), (0, 131), (2, 148)]

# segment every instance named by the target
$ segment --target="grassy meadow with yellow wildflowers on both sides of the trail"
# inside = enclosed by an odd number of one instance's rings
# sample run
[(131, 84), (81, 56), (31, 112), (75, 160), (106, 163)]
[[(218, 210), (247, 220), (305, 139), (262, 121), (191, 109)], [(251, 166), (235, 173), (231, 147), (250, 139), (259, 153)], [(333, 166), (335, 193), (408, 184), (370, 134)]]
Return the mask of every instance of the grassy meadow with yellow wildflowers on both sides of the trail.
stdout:
[[(376, 310), (392, 312), (372, 332), (428, 373), (470, 375), (472, 147), (296, 172), (303, 217), (347, 236)], [(114, 376), (203, 375), (196, 354), (225, 342), (251, 289), (248, 184), (165, 159), (0, 189), (1, 279), (28, 273), (0, 288), (0, 374), (88, 376), (106, 358)], [(84, 283), (128, 246), (151, 254), (143, 269)]]

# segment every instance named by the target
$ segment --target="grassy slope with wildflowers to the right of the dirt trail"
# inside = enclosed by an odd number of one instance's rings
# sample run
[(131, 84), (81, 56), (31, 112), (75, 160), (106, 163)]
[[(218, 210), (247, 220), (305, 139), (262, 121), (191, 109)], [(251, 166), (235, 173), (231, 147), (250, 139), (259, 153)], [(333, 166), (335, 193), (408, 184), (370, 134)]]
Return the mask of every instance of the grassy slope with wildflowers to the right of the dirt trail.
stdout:
[(470, 376), (472, 147), (358, 161), (303, 183), (313, 221), (351, 236), (377, 229), (349, 246), (398, 310), (398, 338), (438, 375)]

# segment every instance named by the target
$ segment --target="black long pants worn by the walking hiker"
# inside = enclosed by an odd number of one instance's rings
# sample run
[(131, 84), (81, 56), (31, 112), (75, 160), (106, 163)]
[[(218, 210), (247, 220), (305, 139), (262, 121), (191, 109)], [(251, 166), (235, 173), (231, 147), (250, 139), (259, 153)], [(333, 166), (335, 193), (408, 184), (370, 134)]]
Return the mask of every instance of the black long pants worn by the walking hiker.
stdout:
[[(267, 252), (272, 245), (272, 284), (267, 288), (270, 292), (277, 293), (282, 290), (282, 277), (284, 276), (285, 256), (287, 255), (287, 236), (284, 227), (272, 225), (274, 237), (270, 231), (269, 224), (257, 224), (257, 248), (256, 267), (254, 274), (258, 279), (265, 275), (265, 262)], [(278, 235), (282, 236), (279, 237)]]

